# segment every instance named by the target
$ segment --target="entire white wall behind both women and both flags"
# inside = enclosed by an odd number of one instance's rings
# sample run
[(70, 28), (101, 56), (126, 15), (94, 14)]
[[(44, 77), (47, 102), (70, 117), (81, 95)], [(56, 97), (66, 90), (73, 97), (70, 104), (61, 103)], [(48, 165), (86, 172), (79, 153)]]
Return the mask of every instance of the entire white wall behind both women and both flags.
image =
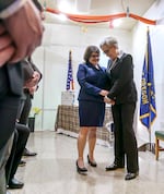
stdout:
[[(156, 20), (164, 17), (164, 1), (156, 3), (144, 15)], [(128, 21), (128, 19), (127, 19)], [(37, 130), (54, 130), (57, 107), (61, 102), (61, 92), (66, 90), (69, 50), (72, 50), (72, 65), (75, 81), (75, 97), (79, 85), (75, 74), (78, 64), (83, 61), (83, 52), (89, 45), (99, 45), (105, 36), (115, 36), (119, 40), (120, 49), (131, 52), (134, 61), (134, 80), (138, 88), (138, 112), (140, 106), (141, 72), (147, 40), (147, 25), (139, 22), (130, 32), (89, 26), (83, 33), (80, 25), (45, 24), (43, 46), (36, 49), (33, 59), (44, 74), (40, 87), (35, 94), (33, 107), (40, 107), (42, 113), (36, 118)], [(154, 131), (164, 129), (163, 95), (164, 95), (164, 26), (150, 26), (152, 52), (154, 61), (154, 77), (156, 90), (157, 118), (152, 126), (152, 142)], [(106, 65), (107, 58), (102, 53), (101, 64)], [(77, 104), (77, 101), (75, 101)], [(149, 142), (149, 133), (137, 119), (137, 133), (140, 138)]]

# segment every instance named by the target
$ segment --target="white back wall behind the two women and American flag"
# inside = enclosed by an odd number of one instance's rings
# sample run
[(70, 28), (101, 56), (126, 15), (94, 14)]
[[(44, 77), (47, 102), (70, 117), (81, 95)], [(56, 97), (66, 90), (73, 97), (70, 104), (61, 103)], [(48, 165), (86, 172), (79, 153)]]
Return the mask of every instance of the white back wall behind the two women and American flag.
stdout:
[[(89, 26), (87, 32), (83, 33), (80, 25), (62, 24), (45, 24), (45, 28), (43, 46), (33, 54), (34, 62), (44, 75), (33, 100), (33, 107), (43, 109), (36, 117), (36, 130), (54, 130), (57, 107), (61, 102), (61, 92), (66, 90), (70, 49), (72, 50), (75, 98), (79, 92), (77, 69), (83, 61), (86, 46), (98, 46), (104, 37), (115, 36), (119, 40), (120, 49), (131, 52), (130, 32)], [(103, 53), (101, 64), (107, 64), (107, 58)]]

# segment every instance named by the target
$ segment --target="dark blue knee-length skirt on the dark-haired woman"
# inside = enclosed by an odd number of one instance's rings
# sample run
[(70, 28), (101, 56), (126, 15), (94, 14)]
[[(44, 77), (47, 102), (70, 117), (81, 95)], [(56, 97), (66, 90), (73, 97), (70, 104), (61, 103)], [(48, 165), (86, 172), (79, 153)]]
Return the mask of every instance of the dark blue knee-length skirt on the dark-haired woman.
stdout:
[(79, 101), (80, 126), (103, 126), (105, 104), (98, 101)]

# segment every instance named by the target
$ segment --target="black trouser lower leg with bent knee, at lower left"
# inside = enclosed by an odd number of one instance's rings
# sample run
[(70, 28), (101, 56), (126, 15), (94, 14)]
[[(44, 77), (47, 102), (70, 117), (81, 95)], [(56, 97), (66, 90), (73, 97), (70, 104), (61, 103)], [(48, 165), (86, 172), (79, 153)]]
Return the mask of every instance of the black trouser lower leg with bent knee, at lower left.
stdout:
[(16, 123), (11, 155), (5, 166), (7, 183), (9, 183), (16, 173), (28, 136), (30, 129), (24, 124)]

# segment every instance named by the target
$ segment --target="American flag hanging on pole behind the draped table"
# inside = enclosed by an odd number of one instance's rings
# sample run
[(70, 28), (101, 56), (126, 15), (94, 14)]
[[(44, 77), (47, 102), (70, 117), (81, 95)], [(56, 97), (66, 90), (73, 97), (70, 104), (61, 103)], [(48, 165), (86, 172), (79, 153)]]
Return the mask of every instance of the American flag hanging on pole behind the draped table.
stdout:
[(68, 74), (67, 74), (67, 90), (74, 89), (73, 72), (72, 72), (72, 52), (69, 51), (69, 63), (68, 63)]

